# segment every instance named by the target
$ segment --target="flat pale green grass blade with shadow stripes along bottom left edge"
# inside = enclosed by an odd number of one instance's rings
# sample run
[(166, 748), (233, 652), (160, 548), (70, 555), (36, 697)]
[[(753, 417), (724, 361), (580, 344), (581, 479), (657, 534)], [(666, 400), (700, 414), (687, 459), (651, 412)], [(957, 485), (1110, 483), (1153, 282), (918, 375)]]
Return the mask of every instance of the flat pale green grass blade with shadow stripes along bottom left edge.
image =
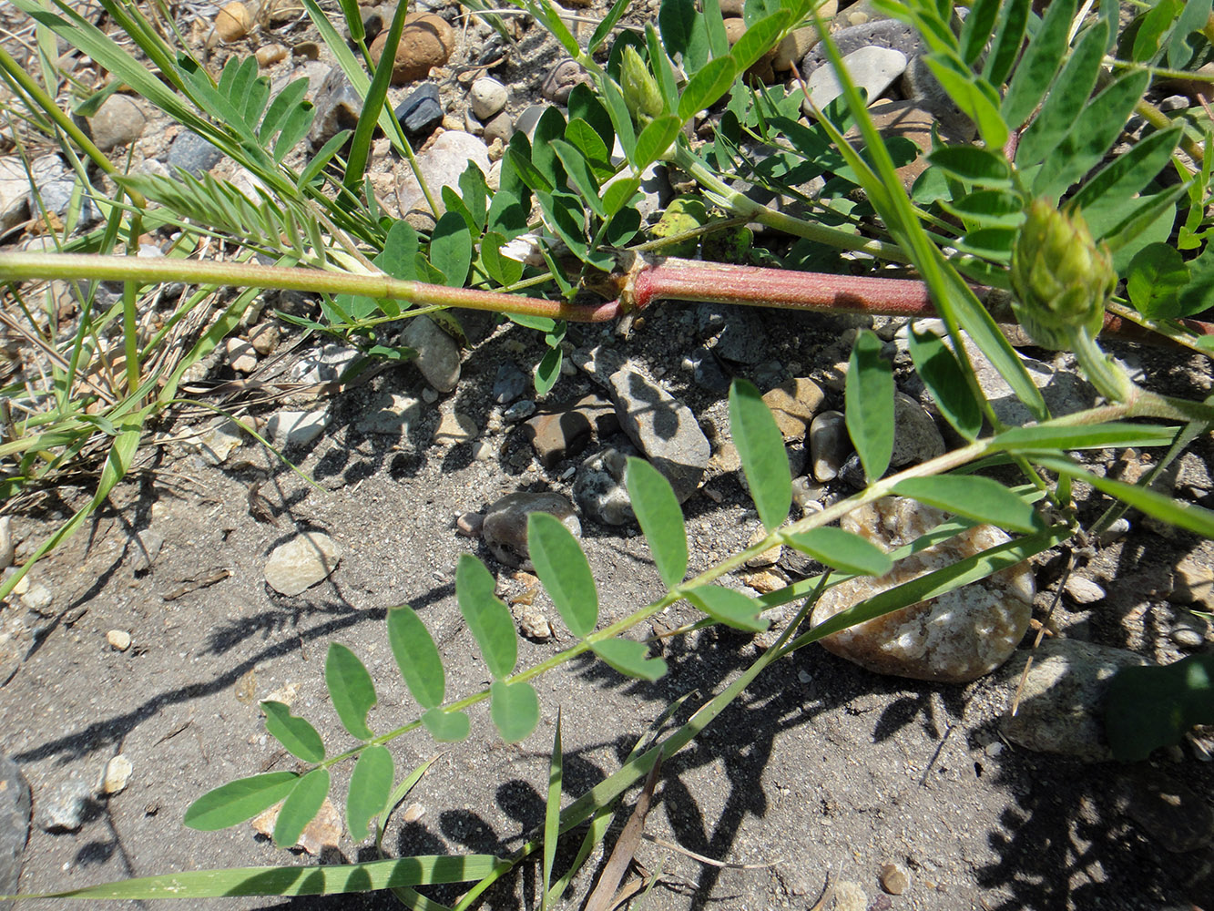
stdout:
[(138, 901), (245, 895), (341, 895), (399, 885), (472, 882), (489, 876), (501, 864), (492, 854), (442, 854), (330, 866), (187, 870), (23, 898)]

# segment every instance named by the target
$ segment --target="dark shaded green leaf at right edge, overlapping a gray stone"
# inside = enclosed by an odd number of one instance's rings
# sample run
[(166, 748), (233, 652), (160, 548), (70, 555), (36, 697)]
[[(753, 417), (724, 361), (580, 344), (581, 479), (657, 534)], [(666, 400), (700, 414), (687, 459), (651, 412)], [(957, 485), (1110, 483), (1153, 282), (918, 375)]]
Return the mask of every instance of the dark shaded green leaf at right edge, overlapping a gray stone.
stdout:
[(1108, 681), (1105, 735), (1123, 763), (1179, 743), (1195, 724), (1214, 724), (1214, 655), (1122, 668)]

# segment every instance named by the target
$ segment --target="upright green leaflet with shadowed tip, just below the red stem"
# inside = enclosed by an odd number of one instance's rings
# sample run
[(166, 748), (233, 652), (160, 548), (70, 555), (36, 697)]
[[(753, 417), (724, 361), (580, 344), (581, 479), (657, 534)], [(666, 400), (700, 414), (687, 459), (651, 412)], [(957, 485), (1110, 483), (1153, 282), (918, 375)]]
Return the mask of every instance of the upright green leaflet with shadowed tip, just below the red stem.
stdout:
[(894, 457), (894, 367), (881, 357), (881, 340), (870, 329), (856, 336), (844, 401), (847, 432), (864, 476), (875, 481)]

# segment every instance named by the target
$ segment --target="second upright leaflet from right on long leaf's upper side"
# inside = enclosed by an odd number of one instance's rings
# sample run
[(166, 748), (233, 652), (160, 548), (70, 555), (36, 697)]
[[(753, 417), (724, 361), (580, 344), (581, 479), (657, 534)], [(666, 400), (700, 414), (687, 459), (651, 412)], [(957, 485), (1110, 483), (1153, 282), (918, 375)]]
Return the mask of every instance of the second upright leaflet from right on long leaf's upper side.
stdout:
[(730, 430), (742, 457), (742, 470), (747, 475), (759, 521), (772, 531), (788, 519), (793, 505), (793, 475), (788, 468), (788, 453), (784, 452), (784, 436), (759, 390), (748, 380), (738, 379), (730, 386)]

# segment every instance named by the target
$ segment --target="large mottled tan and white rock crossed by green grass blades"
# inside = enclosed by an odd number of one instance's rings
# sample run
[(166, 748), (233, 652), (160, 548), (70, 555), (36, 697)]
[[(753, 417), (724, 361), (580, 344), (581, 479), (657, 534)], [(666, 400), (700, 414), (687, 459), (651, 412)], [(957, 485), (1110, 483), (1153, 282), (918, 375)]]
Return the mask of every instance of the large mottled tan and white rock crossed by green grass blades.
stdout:
[[(944, 514), (903, 497), (852, 510), (840, 526), (894, 550), (943, 521)], [(813, 624), (853, 604), (1009, 541), (980, 525), (920, 550), (880, 578), (861, 577), (829, 589), (813, 609)], [(938, 598), (908, 605), (822, 640), (830, 652), (881, 674), (966, 683), (994, 670), (1028, 628), (1033, 573), (1014, 566)]]

